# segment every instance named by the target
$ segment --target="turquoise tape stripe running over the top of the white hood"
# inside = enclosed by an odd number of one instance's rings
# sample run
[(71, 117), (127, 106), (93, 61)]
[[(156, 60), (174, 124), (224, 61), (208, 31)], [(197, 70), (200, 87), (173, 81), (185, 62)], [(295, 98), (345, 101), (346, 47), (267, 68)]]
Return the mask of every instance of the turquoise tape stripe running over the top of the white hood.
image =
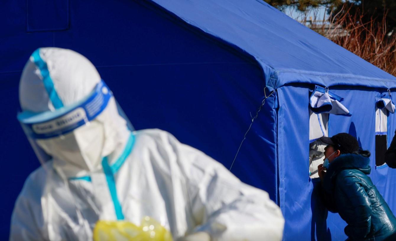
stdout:
[(34, 64), (39, 68), (41, 76), (43, 78), (44, 87), (47, 90), (48, 97), (52, 102), (52, 105), (55, 109), (59, 109), (63, 107), (63, 103), (56, 92), (55, 86), (53, 85), (53, 81), (49, 74), (47, 63), (40, 56), (40, 49), (36, 49), (32, 53), (32, 58)]

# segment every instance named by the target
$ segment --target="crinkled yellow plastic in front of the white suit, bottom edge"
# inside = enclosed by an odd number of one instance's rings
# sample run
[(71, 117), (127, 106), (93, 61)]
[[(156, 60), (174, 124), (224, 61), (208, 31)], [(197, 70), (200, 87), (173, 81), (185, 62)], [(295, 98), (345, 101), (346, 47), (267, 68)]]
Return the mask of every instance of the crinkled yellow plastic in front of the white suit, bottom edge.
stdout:
[(127, 221), (101, 221), (93, 229), (94, 241), (172, 241), (171, 233), (150, 217), (141, 226)]

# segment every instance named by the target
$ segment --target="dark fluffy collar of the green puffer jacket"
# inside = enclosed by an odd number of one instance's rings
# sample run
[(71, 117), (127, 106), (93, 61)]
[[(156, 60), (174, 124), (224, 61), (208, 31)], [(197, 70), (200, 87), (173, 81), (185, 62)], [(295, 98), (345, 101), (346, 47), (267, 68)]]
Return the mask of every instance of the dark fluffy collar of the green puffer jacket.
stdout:
[(327, 169), (327, 173), (323, 182), (324, 187), (328, 191), (331, 190), (333, 188), (332, 183), (335, 176), (337, 176), (339, 172), (346, 169), (357, 169), (366, 175), (370, 174), (371, 167), (369, 163), (369, 158), (357, 154), (343, 154), (338, 158), (335, 158)]

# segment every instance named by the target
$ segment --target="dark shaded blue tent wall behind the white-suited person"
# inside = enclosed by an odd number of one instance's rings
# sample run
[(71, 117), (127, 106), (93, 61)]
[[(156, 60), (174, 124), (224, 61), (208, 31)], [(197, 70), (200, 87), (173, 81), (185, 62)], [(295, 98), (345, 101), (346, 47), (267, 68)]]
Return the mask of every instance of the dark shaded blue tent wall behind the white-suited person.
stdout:
[[(6, 197), (0, 201), (0, 239), (7, 239), (23, 182), (39, 166), (16, 120), (19, 76), (38, 47), (82, 53), (97, 66), (136, 129), (169, 131), (230, 167), (264, 94), (263, 72), (253, 59), (142, 5), (145, 1), (69, 0), (67, 15), (57, 16), (40, 11), (55, 11), (65, 1), (45, 9), (28, 2), (7, 0), (2, 6), (8, 14), (0, 15), (5, 23), (0, 33), (1, 123), (6, 127), (0, 139)], [(28, 13), (36, 13), (29, 29)], [(267, 100), (232, 167), (239, 178), (267, 190), (273, 200), (275, 103), (274, 97)]]

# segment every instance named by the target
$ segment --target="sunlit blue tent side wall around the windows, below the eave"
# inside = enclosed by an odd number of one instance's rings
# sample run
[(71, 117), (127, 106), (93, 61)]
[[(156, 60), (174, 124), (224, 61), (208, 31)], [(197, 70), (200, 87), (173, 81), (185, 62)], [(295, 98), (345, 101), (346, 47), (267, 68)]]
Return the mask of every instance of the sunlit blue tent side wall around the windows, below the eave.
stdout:
[[(279, 109), (278, 156), (279, 200), (286, 219), (284, 240), (344, 240), (346, 223), (339, 214), (329, 213), (318, 198), (317, 179), (308, 175), (308, 98), (313, 85), (285, 86), (277, 90)], [(343, 97), (352, 116), (329, 117), (329, 136), (346, 132), (355, 136), (364, 150), (371, 152), (369, 175), (392, 211), (395, 210), (396, 169), (375, 166), (375, 96), (386, 89), (330, 87)], [(392, 92), (396, 96), (396, 93)], [(395, 114), (388, 117), (388, 139), (393, 137)], [(389, 143), (388, 143), (389, 144)]]

